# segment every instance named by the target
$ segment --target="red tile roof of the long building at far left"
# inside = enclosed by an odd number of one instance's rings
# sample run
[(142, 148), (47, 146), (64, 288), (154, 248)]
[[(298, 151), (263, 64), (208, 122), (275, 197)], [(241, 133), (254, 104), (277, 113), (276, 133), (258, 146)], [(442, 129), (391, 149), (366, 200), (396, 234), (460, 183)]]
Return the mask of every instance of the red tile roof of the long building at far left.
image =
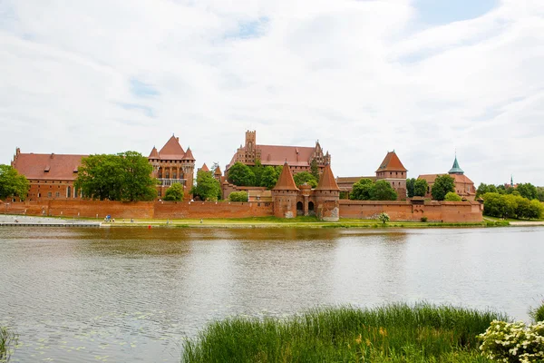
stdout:
[[(29, 180), (74, 181), (82, 158), (89, 155), (19, 153), (14, 168)], [(48, 172), (45, 172), (48, 170)]]

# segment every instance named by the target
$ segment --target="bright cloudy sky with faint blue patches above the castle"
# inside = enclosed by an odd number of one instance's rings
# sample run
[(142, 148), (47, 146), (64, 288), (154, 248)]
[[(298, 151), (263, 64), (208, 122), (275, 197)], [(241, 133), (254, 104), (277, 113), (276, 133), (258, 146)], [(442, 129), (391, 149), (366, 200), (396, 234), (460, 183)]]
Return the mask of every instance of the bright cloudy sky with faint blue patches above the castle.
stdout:
[(544, 185), (542, 0), (0, 0), (0, 163), (22, 152), (197, 164), (313, 146), (340, 176), (395, 150)]

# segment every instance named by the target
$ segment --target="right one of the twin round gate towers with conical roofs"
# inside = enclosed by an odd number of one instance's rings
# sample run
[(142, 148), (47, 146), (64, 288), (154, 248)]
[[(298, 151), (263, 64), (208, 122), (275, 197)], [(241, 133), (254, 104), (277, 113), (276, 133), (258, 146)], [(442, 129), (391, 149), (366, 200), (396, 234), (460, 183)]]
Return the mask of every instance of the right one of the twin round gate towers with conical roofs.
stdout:
[(340, 218), (340, 188), (336, 184), (331, 165), (326, 164), (314, 190), (316, 215), (322, 221), (338, 221)]

